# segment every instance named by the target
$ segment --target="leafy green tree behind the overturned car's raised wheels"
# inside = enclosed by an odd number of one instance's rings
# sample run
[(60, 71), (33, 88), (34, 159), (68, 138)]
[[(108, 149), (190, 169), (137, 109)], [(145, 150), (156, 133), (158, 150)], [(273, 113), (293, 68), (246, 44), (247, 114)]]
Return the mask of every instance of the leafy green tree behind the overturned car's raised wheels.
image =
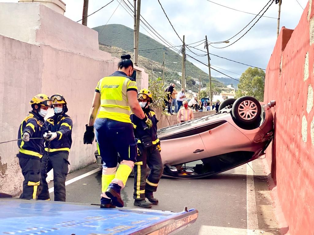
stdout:
[(235, 98), (252, 96), (258, 101), (264, 100), (265, 72), (258, 68), (247, 68), (240, 77), (239, 90)]

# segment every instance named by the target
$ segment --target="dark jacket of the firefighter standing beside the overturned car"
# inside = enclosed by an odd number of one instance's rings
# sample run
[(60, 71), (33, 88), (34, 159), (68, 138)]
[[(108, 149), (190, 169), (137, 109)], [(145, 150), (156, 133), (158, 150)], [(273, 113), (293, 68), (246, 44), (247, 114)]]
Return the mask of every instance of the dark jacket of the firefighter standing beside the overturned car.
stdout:
[(138, 118), (134, 113), (131, 113), (130, 119), (133, 124), (134, 136), (138, 139), (138, 143), (141, 143), (144, 136), (149, 136), (152, 139), (153, 145), (160, 145), (160, 140), (157, 137), (157, 123), (156, 114), (154, 110), (148, 108), (143, 109), (147, 118), (152, 120), (153, 126), (148, 129), (145, 122)]

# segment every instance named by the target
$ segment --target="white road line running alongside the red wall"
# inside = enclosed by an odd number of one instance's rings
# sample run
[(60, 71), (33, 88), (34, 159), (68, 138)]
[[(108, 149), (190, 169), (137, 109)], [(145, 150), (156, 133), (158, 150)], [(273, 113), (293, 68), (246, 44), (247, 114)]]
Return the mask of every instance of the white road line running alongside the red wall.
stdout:
[(246, 166), (246, 221), (247, 221), (247, 235), (259, 234), (257, 210), (255, 200), (255, 187), (252, 162)]

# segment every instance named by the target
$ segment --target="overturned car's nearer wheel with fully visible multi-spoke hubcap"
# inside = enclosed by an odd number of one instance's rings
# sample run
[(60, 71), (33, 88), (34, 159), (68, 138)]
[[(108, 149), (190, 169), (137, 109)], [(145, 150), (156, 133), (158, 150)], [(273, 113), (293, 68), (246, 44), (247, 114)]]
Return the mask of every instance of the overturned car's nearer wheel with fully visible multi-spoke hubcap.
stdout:
[(262, 107), (257, 99), (251, 96), (238, 98), (232, 106), (233, 117), (244, 124), (257, 123), (260, 120)]

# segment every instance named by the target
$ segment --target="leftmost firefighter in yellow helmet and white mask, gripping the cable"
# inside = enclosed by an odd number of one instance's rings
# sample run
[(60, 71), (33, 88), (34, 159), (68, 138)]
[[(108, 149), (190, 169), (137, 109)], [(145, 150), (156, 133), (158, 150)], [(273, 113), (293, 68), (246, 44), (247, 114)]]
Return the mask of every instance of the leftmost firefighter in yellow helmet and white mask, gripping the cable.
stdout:
[(30, 105), (32, 111), (22, 121), (18, 138), (19, 165), (24, 176), (23, 192), (20, 198), (37, 199), (40, 192), (40, 167), (44, 154), (44, 133), (47, 132), (44, 117), (48, 108), (52, 107), (52, 101), (45, 94), (34, 96)]

